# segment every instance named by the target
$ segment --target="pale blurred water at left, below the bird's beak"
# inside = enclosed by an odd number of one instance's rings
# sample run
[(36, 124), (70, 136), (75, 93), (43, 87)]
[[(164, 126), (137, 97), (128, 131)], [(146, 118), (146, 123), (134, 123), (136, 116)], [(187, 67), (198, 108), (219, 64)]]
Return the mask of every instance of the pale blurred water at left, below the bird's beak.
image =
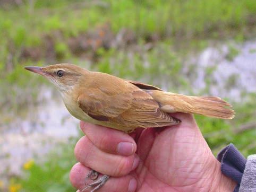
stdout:
[[(4, 127), (0, 137), (0, 173), (21, 174), (24, 162), (40, 159), (54, 145), (78, 135), (79, 120), (66, 110), (61, 97), (54, 99), (51, 89), (42, 88), (38, 106), (29, 106), (25, 119), (15, 119)], [(43, 99), (44, 98), (44, 99)]]

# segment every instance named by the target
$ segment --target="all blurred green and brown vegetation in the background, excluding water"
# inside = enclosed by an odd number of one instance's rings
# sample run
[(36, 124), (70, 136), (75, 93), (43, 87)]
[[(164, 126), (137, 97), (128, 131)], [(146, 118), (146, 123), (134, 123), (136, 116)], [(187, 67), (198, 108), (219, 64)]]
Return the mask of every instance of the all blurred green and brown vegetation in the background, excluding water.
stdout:
[[(4, 118), (7, 114), (8, 121), (20, 109), (26, 110), (37, 98), (38, 85), (46, 83), (25, 72), (25, 65), (74, 63), (195, 94), (193, 81), (200, 66), (186, 64), (186, 58), (206, 48), (208, 39), (243, 42), (256, 29), (256, 1), (251, 0), (21, 2), (0, 8), (0, 108), (5, 109), (0, 114)], [(226, 59), (232, 61), (239, 53), (230, 44)], [(209, 93), (215, 70), (216, 66), (206, 68), (206, 88), (200, 94)], [(236, 79), (234, 75), (224, 82), (227, 90)], [(236, 117), (232, 121), (196, 116), (215, 155), (229, 142), (245, 156), (256, 152), (255, 96), (244, 93), (241, 102), (233, 102)], [(14, 111), (14, 116), (6, 111)], [(12, 178), (10, 184), (21, 184), (22, 191), (74, 190), (69, 171), (75, 163), (77, 139), (56, 146), (54, 151), (61, 149), (59, 153), (50, 153), (41, 163), (35, 161), (24, 177)]]

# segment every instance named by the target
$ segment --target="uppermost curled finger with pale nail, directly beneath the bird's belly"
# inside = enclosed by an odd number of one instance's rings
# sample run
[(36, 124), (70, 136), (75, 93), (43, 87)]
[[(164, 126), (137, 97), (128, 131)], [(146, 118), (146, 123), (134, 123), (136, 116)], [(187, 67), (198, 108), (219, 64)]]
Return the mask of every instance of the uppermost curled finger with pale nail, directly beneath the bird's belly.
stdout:
[(132, 155), (136, 151), (134, 139), (124, 132), (83, 121), (80, 127), (90, 141), (102, 151), (125, 156)]

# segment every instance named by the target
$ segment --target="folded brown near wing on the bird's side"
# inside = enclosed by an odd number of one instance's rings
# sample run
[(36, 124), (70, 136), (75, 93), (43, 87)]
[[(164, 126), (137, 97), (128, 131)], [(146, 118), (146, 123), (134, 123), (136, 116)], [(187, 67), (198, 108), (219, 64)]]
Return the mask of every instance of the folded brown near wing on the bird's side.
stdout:
[[(79, 107), (91, 118), (108, 121), (112, 125), (146, 128), (179, 123), (161, 111), (157, 101), (140, 87), (128, 81), (117, 81), (112, 86), (106, 86), (107, 81), (101, 81), (101, 84), (95, 82), (97, 87), (87, 89), (79, 96)], [(141, 88), (151, 88), (151, 85), (139, 84)]]

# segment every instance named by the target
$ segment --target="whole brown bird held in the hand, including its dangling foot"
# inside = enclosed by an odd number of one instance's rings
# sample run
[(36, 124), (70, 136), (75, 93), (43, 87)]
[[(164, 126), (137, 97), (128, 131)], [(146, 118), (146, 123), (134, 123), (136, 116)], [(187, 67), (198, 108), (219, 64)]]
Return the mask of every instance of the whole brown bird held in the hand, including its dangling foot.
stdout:
[[(45, 76), (55, 84), (72, 116), (82, 121), (131, 133), (136, 128), (165, 127), (181, 123), (174, 112), (232, 119), (231, 104), (219, 97), (187, 96), (156, 86), (92, 72), (73, 64), (25, 69)], [(109, 179), (91, 170), (86, 179), (96, 180), (82, 191), (96, 191)]]

